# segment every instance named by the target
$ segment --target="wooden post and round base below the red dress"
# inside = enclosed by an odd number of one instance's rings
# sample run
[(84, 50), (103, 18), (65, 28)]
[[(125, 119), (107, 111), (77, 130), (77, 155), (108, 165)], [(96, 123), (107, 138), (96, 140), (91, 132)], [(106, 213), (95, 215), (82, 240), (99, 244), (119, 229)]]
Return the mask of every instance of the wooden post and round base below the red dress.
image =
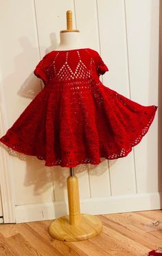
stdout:
[(67, 192), (69, 215), (52, 221), (49, 234), (61, 241), (81, 241), (94, 237), (102, 230), (102, 222), (96, 216), (80, 214), (80, 198), (78, 177), (74, 175), (73, 167), (67, 177)]

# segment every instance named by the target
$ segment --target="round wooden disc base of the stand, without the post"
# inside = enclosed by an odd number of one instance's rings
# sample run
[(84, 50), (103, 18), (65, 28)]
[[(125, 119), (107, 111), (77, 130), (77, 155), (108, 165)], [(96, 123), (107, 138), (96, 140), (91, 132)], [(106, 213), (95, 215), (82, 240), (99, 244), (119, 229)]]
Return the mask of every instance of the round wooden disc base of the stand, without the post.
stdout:
[(95, 237), (102, 230), (102, 222), (96, 216), (81, 214), (79, 225), (69, 224), (69, 215), (51, 222), (49, 234), (60, 241), (82, 241)]

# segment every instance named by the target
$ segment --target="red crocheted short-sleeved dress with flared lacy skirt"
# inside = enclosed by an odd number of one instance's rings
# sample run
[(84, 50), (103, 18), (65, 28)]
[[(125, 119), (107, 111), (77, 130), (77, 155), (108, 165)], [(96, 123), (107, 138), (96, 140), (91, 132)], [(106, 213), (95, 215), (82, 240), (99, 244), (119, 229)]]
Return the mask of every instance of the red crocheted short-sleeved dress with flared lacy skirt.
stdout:
[(45, 166), (100, 164), (126, 157), (139, 144), (157, 106), (142, 106), (104, 86), (108, 71), (90, 48), (53, 50), (34, 75), (43, 90), (0, 138), (1, 143), (45, 161)]

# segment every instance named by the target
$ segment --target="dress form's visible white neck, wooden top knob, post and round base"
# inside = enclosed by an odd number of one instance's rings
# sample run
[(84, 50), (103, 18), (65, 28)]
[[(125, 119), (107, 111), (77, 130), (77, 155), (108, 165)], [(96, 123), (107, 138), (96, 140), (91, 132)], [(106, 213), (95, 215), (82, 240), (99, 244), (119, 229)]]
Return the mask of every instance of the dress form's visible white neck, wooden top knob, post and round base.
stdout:
[[(60, 45), (57, 50), (73, 50), (83, 48), (79, 30), (72, 29), (72, 12), (67, 11), (67, 30), (60, 31)], [(67, 178), (69, 215), (52, 221), (49, 234), (61, 241), (81, 241), (94, 237), (102, 230), (102, 222), (96, 216), (80, 213), (80, 197), (78, 178), (73, 167)]]

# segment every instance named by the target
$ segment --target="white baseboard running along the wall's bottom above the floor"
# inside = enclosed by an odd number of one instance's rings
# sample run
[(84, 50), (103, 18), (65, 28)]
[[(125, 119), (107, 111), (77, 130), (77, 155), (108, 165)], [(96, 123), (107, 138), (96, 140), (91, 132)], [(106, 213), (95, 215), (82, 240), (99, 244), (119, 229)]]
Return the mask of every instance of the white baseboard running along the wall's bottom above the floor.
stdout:
[[(143, 193), (80, 200), (81, 213), (100, 215), (138, 210), (157, 210), (162, 206), (162, 193)], [(16, 223), (56, 219), (69, 213), (67, 201), (15, 206)]]

